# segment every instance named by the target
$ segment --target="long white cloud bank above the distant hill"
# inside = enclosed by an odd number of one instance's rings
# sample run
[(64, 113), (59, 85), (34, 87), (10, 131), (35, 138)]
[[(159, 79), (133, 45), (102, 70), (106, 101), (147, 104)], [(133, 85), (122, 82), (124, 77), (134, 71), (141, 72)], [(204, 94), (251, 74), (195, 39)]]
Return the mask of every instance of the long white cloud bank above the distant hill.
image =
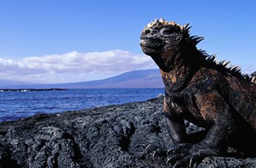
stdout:
[(156, 68), (150, 57), (124, 50), (74, 51), (18, 60), (0, 58), (1, 79), (30, 82), (83, 81), (147, 68)]

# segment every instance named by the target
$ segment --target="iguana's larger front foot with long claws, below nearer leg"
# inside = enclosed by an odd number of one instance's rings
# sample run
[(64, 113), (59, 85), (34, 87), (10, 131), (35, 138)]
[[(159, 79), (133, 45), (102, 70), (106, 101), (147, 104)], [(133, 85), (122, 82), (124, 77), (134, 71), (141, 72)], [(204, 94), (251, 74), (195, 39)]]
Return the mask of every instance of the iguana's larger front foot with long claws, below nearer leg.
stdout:
[(174, 164), (173, 168), (193, 167), (194, 164), (207, 156), (220, 156), (220, 151), (203, 145), (203, 143), (195, 145), (184, 143), (168, 150), (167, 156), (166, 164)]

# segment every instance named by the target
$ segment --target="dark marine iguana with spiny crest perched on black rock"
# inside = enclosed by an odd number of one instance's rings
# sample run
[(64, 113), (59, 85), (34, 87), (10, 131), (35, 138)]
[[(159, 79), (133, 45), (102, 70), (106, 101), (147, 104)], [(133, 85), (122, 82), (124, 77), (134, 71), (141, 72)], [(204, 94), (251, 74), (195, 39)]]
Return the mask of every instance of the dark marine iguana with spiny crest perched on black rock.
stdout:
[[(140, 46), (159, 66), (165, 86), (163, 111), (173, 141), (167, 163), (191, 167), (207, 156), (223, 156), (228, 146), (252, 156), (256, 77), (197, 49), (203, 38), (190, 36), (190, 28), (161, 18), (145, 26), (140, 36)], [(199, 143), (190, 143), (184, 119), (207, 130)]]

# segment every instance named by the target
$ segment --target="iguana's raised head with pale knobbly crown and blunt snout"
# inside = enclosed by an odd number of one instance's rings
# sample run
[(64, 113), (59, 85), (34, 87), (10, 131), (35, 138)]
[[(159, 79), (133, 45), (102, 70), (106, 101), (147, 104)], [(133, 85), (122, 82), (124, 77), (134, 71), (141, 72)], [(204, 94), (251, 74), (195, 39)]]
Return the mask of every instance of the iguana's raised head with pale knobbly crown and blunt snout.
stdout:
[(195, 45), (203, 39), (189, 36), (188, 25), (181, 26), (175, 22), (167, 22), (163, 18), (148, 23), (140, 36), (143, 52), (150, 55), (161, 70), (168, 71), (171, 66), (174, 66), (171, 65), (173, 60), (186, 59), (177, 58), (177, 54), (195, 50)]

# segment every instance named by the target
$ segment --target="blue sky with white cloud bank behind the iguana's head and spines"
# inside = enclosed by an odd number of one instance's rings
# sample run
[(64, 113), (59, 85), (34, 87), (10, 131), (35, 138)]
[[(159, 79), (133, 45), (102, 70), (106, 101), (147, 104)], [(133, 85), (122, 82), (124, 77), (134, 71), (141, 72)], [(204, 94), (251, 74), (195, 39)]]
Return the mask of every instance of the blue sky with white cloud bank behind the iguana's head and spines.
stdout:
[(0, 0), (0, 79), (60, 83), (157, 68), (140, 32), (155, 18), (204, 36), (198, 49), (256, 71), (256, 1)]

